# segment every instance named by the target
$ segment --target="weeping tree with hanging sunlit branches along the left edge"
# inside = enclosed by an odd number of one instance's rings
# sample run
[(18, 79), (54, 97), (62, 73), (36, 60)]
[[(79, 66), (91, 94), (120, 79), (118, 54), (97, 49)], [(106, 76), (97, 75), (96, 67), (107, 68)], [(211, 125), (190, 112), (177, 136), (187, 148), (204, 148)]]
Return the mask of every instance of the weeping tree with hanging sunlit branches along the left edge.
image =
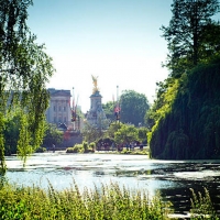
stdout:
[(35, 43), (28, 25), (32, 0), (0, 0), (0, 161), (4, 163), (4, 122), (13, 108), (20, 110), (21, 129), (18, 153), (22, 160), (42, 143), (45, 110), (48, 107), (46, 82), (53, 75), (52, 58), (44, 45)]

